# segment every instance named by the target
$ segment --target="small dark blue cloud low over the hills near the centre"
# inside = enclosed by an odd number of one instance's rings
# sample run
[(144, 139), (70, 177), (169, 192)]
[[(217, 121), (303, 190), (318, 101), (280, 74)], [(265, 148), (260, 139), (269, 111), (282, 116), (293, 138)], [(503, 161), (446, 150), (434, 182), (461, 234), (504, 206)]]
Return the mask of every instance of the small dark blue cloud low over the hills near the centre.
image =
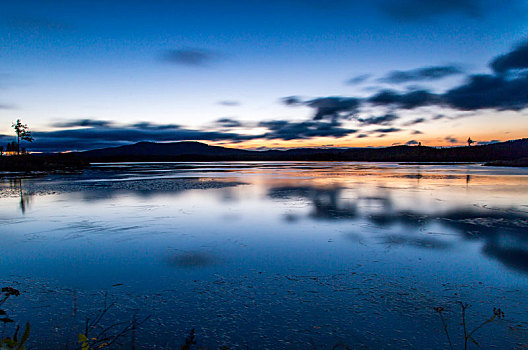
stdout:
[(285, 120), (273, 120), (259, 123), (270, 131), (264, 135), (266, 139), (308, 139), (312, 137), (345, 137), (357, 132), (355, 129), (342, 128), (337, 121), (304, 121), (289, 122)]

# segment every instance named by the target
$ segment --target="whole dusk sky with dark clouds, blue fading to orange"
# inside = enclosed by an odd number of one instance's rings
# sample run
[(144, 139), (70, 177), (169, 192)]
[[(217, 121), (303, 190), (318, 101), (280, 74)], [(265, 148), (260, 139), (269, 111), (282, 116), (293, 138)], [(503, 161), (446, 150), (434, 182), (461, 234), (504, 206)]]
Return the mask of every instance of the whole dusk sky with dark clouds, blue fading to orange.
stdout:
[(528, 1), (0, 2), (0, 144), (528, 137)]

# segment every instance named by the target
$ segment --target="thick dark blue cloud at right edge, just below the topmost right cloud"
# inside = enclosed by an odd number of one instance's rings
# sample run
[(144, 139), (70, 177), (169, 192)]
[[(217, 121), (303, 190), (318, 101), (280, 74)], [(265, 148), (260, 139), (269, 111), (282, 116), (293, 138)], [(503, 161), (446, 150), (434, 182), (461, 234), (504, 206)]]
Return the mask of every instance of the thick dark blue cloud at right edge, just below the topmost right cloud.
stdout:
[(520, 110), (528, 106), (528, 77), (507, 79), (488, 74), (471, 75), (463, 85), (447, 91), (443, 99), (449, 106), (465, 111)]

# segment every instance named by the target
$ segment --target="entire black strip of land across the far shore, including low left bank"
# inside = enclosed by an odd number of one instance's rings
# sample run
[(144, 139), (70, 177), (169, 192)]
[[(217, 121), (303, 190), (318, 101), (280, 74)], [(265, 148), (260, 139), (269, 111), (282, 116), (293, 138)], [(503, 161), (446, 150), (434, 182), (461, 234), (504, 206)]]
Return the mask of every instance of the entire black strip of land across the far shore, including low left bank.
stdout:
[(383, 148), (294, 148), (249, 151), (210, 146), (200, 142), (138, 142), (84, 152), (29, 154), (0, 157), (0, 171), (69, 171), (90, 163), (220, 162), (220, 161), (325, 161), (384, 162), (400, 165), (528, 166), (528, 139), (489, 145), (436, 148), (391, 146)]

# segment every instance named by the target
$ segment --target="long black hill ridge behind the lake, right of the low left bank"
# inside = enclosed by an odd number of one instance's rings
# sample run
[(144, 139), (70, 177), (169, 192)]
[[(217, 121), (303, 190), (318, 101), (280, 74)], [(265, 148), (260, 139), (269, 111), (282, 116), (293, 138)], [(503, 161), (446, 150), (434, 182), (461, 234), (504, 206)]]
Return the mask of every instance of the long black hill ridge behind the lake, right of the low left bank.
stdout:
[(471, 147), (392, 146), (383, 148), (294, 148), (248, 151), (200, 142), (155, 143), (103, 148), (77, 155), (90, 162), (319, 160), (375, 162), (489, 162), (528, 156), (528, 139)]

